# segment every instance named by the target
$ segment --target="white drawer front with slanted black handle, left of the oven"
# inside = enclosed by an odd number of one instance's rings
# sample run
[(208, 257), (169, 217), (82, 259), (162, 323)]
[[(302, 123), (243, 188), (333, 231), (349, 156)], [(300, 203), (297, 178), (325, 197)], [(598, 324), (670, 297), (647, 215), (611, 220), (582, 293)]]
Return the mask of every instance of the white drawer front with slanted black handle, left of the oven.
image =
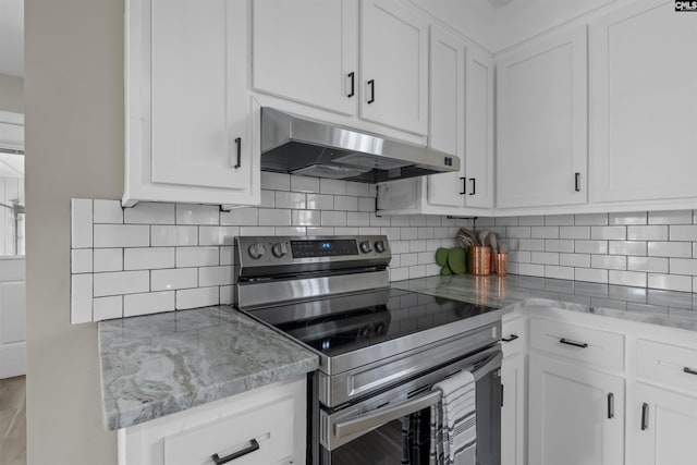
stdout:
[(250, 448), (258, 450), (235, 458), (235, 465), (273, 464), (293, 454), (293, 399), (284, 397), (188, 429), (162, 439), (168, 465), (208, 464), (211, 455), (221, 458)]

